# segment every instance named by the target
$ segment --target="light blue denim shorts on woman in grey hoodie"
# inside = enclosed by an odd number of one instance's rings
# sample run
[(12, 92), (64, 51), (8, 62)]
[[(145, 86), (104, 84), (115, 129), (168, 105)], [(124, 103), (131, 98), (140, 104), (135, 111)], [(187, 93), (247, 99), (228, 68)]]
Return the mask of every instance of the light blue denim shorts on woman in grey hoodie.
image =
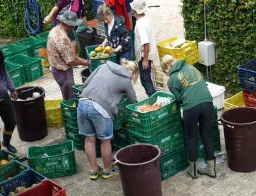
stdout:
[(113, 121), (105, 118), (95, 108), (92, 101), (82, 100), (77, 108), (77, 122), (79, 134), (97, 136), (99, 140), (108, 140), (113, 137)]

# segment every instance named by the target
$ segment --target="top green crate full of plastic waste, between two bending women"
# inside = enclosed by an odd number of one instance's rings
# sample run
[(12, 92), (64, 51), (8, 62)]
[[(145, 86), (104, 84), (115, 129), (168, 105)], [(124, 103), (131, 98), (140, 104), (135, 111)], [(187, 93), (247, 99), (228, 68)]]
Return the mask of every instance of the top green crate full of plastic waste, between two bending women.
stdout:
[[(157, 101), (158, 96), (171, 98), (171, 101), (168, 105), (164, 105), (155, 111), (141, 113), (140, 111), (136, 110), (137, 106), (143, 105), (144, 103), (152, 105)], [(141, 102), (126, 105), (126, 115), (130, 127), (138, 127), (138, 129), (142, 131), (140, 134), (143, 136), (151, 136), (155, 134), (152, 131), (153, 129), (155, 132), (164, 130), (166, 127), (163, 129), (160, 127), (160, 125), (164, 124), (164, 120), (167, 118), (170, 118), (169, 120), (174, 120), (174, 122), (170, 122), (171, 125), (175, 125), (175, 123), (181, 122), (181, 111), (179, 105), (175, 101), (175, 97), (173, 94), (165, 93), (162, 91), (154, 93), (152, 96)], [(156, 129), (157, 127), (160, 129)]]

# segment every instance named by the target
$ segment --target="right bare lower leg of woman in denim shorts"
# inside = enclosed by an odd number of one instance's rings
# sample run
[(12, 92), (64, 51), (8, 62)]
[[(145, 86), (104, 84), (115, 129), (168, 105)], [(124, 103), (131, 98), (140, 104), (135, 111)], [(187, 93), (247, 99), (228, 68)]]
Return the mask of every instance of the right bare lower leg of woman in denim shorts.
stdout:
[(111, 139), (101, 140), (101, 157), (103, 159), (104, 169), (105, 171), (109, 171), (111, 168), (110, 159), (111, 159)]

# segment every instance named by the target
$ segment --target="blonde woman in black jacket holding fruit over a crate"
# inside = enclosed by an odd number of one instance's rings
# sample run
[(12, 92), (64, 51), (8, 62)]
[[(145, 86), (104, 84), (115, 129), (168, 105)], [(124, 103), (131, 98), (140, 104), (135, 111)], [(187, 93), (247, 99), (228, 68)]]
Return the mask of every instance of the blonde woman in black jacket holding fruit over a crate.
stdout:
[(104, 22), (104, 29), (107, 38), (103, 41), (101, 46), (103, 49), (109, 43), (112, 50), (110, 53), (115, 53), (117, 61), (122, 65), (122, 60), (125, 58), (131, 60), (131, 36), (125, 26), (125, 19), (123, 17), (112, 13), (109, 5), (100, 5), (97, 9), (97, 19)]

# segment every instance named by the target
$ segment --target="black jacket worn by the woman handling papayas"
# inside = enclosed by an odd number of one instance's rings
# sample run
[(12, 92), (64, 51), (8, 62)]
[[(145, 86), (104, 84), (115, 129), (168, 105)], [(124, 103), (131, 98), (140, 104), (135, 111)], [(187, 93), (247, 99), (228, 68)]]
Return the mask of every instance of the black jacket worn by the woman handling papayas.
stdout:
[(123, 17), (114, 14), (114, 26), (110, 32), (110, 36), (108, 34), (108, 25), (105, 23), (104, 29), (109, 45), (113, 49), (116, 49), (118, 45), (121, 45), (123, 48), (119, 50), (120, 54), (131, 49), (131, 36), (125, 26), (125, 19)]

